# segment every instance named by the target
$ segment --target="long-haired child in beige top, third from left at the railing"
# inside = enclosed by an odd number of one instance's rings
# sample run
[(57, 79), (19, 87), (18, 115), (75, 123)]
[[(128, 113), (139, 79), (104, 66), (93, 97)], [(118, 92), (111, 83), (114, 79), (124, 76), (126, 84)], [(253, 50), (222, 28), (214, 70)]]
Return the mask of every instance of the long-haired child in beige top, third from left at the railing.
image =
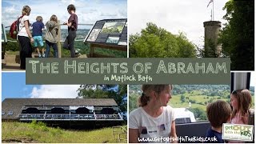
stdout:
[(50, 17), (46, 22), (46, 58), (50, 53), (50, 46), (54, 48), (54, 58), (58, 58), (57, 35), (58, 35), (58, 18), (56, 15)]

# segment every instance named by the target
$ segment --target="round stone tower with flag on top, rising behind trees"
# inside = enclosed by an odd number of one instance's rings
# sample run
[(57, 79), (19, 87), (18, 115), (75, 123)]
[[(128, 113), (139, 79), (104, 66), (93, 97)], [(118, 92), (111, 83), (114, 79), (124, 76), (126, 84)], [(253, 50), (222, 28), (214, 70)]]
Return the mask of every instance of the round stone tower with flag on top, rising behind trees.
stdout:
[(222, 46), (217, 44), (217, 40), (218, 40), (219, 31), (222, 27), (222, 22), (218, 22), (218, 21), (203, 22), (203, 26), (205, 27), (205, 49), (210, 49), (209, 45), (214, 44), (215, 54), (217, 54), (218, 57), (220, 57)]

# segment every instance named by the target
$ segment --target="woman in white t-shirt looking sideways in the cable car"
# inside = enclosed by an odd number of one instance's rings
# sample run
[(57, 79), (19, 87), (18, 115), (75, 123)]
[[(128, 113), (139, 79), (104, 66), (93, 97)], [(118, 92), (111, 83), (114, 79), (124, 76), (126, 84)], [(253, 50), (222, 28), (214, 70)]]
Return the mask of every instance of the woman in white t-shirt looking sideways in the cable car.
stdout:
[(177, 142), (174, 110), (167, 106), (171, 90), (170, 85), (142, 85), (140, 107), (129, 116), (129, 142)]

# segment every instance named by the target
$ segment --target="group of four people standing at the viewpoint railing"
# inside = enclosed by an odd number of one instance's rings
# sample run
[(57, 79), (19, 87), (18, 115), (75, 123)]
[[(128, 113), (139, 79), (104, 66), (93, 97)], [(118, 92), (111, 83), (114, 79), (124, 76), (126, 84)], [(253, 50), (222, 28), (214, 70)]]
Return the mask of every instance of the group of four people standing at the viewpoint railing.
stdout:
[[(70, 50), (71, 58), (75, 57), (74, 50), (74, 38), (76, 37), (76, 31), (78, 30), (78, 16), (75, 14), (75, 6), (67, 6), (70, 18), (64, 25), (68, 26), (68, 36), (63, 44), (63, 48)], [(20, 45), (20, 68), (26, 70), (26, 58), (32, 58), (32, 45), (34, 43), (34, 48), (38, 52), (39, 58), (47, 58), (50, 54), (50, 47), (54, 49), (54, 58), (58, 58), (58, 46), (57, 46), (57, 35), (58, 35), (58, 18), (55, 14), (50, 17), (50, 21), (46, 22), (46, 50), (42, 48), (42, 53), (40, 53), (39, 47), (42, 47), (42, 30), (44, 29), (44, 24), (42, 22), (42, 16), (36, 18), (36, 22), (32, 24), (33, 32), (30, 33), (30, 6), (23, 6), (22, 16), (19, 20), (19, 31), (18, 31), (18, 42)]]

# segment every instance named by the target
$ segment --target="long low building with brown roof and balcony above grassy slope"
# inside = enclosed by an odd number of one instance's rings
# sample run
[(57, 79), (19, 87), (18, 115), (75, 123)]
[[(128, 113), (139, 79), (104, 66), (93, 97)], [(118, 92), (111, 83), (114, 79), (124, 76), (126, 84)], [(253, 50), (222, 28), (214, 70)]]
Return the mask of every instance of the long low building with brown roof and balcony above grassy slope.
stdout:
[(56, 126), (112, 125), (123, 121), (113, 98), (6, 98), (2, 121), (46, 122)]

